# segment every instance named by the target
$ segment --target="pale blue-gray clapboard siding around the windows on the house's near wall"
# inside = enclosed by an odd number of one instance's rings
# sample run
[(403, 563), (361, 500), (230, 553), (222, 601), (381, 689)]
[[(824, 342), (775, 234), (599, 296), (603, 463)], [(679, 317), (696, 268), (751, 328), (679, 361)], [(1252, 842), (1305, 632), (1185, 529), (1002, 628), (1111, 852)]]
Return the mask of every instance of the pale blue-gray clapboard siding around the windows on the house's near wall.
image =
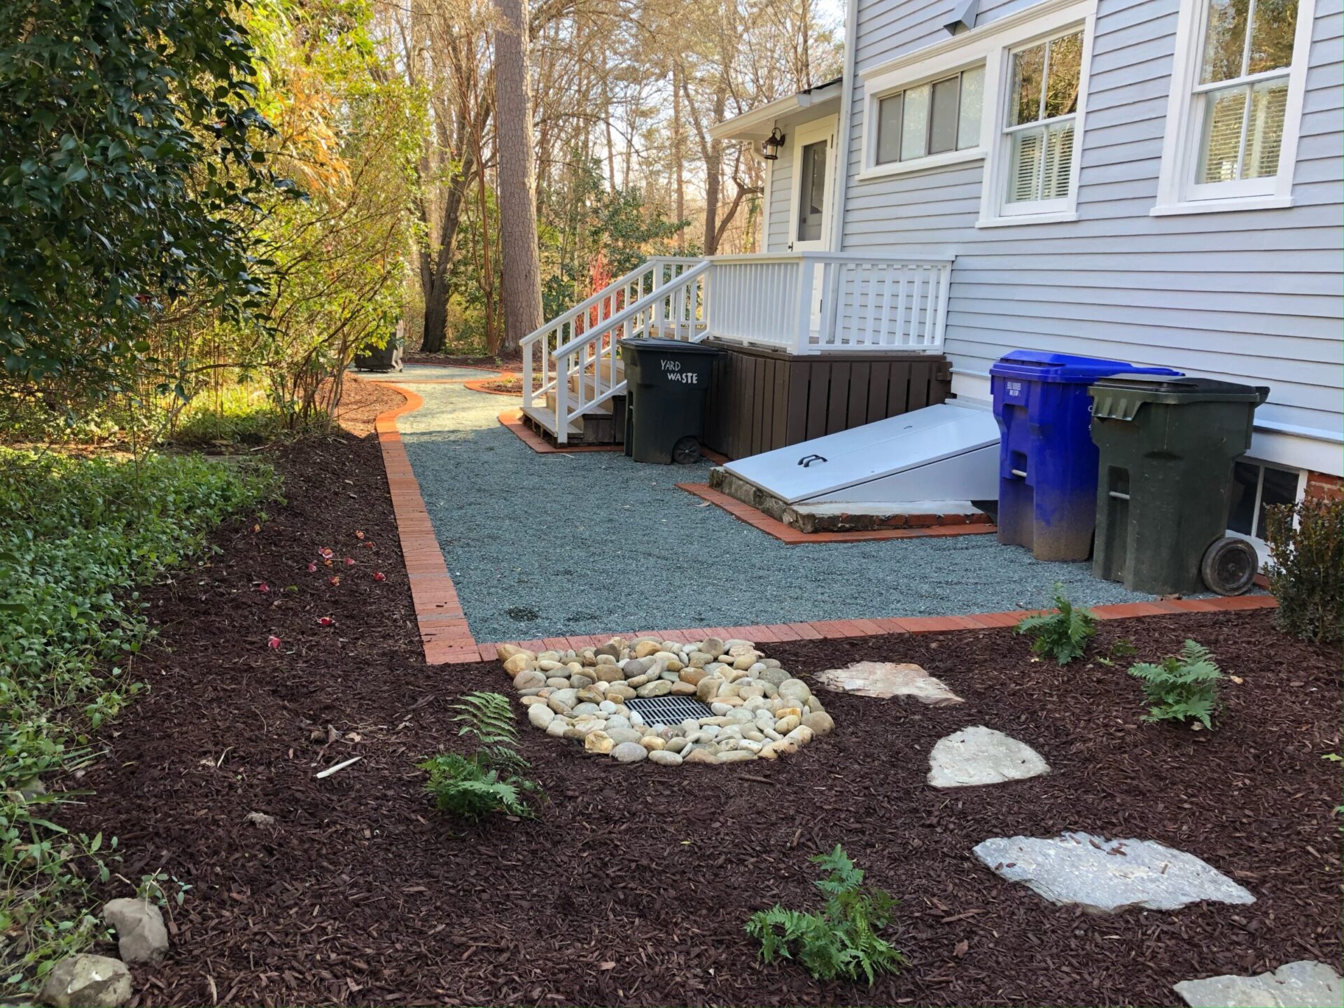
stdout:
[[(857, 71), (948, 38), (953, 0), (855, 1)], [(1027, 5), (986, 0), (977, 26)], [(1077, 222), (977, 230), (981, 163), (859, 183), (856, 73), (843, 249), (957, 257), (946, 351), (961, 375), (1015, 348), (1163, 364), (1269, 384), (1266, 426), (1337, 438), (1340, 7), (1317, 0), (1292, 208), (1149, 216), (1179, 0), (1099, 0)]]

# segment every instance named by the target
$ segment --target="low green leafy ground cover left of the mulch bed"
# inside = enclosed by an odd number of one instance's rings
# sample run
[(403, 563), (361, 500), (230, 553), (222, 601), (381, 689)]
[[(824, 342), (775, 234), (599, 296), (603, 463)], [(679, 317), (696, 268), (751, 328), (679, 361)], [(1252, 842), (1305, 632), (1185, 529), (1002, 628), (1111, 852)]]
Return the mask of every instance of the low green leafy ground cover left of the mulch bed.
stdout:
[(190, 457), (136, 462), (0, 449), (0, 999), (98, 933), (74, 863), (102, 837), (52, 821), (40, 774), (89, 758), (87, 732), (138, 687), (125, 660), (148, 624), (136, 587), (203, 551), (273, 488), (269, 470)]

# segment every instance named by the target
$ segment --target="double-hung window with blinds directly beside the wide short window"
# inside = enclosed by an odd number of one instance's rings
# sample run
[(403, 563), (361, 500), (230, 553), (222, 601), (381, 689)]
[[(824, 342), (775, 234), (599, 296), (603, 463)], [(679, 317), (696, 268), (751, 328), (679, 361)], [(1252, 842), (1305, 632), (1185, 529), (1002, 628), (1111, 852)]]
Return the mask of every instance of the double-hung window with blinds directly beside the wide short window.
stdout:
[(1055, 210), (1071, 195), (1082, 54), (1075, 30), (1009, 58), (1004, 214)]

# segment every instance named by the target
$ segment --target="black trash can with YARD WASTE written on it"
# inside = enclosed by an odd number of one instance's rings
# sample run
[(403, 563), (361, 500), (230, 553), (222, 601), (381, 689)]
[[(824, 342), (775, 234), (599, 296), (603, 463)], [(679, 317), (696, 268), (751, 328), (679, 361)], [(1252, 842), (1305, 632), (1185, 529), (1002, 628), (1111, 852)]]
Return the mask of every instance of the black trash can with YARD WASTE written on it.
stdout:
[(625, 454), (636, 462), (696, 462), (714, 359), (723, 351), (665, 339), (621, 340)]

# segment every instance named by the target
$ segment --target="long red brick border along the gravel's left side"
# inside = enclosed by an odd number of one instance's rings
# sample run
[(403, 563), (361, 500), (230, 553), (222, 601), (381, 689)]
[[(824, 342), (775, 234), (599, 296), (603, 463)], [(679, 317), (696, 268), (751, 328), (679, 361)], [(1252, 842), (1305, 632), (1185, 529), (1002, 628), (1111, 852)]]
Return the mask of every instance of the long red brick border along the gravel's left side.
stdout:
[(401, 406), (378, 414), (374, 430), (378, 433), (378, 446), (383, 450), (387, 489), (392, 496), (392, 513), (396, 516), (396, 534), (402, 543), (402, 559), (411, 587), (425, 664), (480, 661), (476, 638), (466, 625), (457, 587), (448, 573), (444, 551), (438, 548), (438, 538), (419, 492), (419, 481), (406, 456), (402, 433), (396, 429), (396, 418), (418, 410), (425, 401), (403, 386), (391, 382), (379, 384), (395, 390), (406, 399)]

